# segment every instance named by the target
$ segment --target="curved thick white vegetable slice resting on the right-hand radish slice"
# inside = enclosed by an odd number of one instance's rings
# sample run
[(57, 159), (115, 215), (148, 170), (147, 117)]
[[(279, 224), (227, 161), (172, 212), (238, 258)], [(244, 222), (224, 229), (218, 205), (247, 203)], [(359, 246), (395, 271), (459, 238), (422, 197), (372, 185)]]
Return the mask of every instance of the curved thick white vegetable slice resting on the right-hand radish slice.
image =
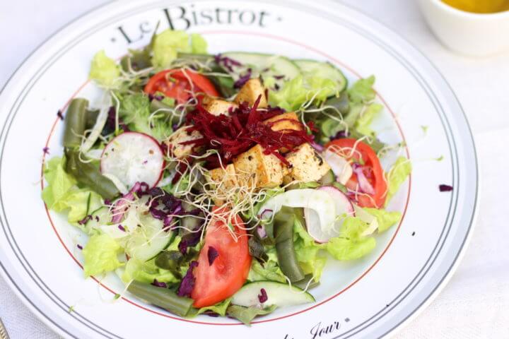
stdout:
[(330, 194), (317, 189), (292, 189), (270, 198), (259, 209), (259, 218), (269, 219), (281, 210), (281, 207), (301, 207), (317, 213), (315, 227), (328, 230), (333, 227), (336, 218), (336, 206)]

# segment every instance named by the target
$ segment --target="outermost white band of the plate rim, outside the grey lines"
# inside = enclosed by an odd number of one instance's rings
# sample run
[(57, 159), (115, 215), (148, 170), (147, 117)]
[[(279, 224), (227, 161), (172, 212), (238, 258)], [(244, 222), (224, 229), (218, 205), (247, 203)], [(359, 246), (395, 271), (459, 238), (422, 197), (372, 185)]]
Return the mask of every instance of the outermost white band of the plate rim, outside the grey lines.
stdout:
[[(29, 59), (31, 57), (33, 57), (34, 54), (37, 54), (37, 52), (40, 52), (40, 50), (43, 47), (45, 47), (45, 45), (48, 44), (48, 42), (53, 40), (55, 37), (57, 37), (57, 35), (60, 35), (62, 32), (67, 30), (67, 28), (69, 28), (69, 26), (75, 24), (79, 20), (83, 20), (84, 18), (90, 16), (91, 14), (95, 13), (96, 11), (100, 11), (103, 8), (109, 7), (112, 4), (119, 3), (119, 2), (121, 2), (121, 0), (110, 0), (110, 1), (106, 1), (103, 4), (100, 4), (98, 6), (94, 6), (93, 8), (90, 8), (88, 11), (82, 13), (80, 16), (77, 16), (76, 18), (69, 20), (66, 24), (62, 25), (58, 30), (54, 31), (51, 35), (49, 35), (49, 37), (47, 37), (40, 44), (38, 44), (37, 47), (35, 47), (35, 49), (33, 49), (33, 51), (30, 52), (30, 54), (28, 54), (28, 56), (25, 57), (25, 59), (23, 59), (21, 64), (19, 64), (19, 66), (11, 73), (11, 76), (8, 77), (6, 83), (4, 83), (3, 87), (0, 90), (0, 96), (2, 94), (4, 94), (4, 90), (6, 90), (8, 88), (8, 86), (13, 81), (13, 78), (16, 75), (18, 75), (18, 73), (19, 73), (19, 71), (21, 71), (21, 69), (23, 69), (23, 66), (28, 64)], [(139, 1), (134, 1), (134, 2), (139, 2)], [(152, 4), (156, 3), (156, 1), (151, 1), (151, 2), (152, 2)], [(302, 1), (298, 1), (298, 0), (286, 0), (286, 2), (290, 2), (293, 4), (302, 4)], [(376, 18), (373, 18), (373, 17), (369, 16), (368, 14), (363, 13), (359, 9), (349, 6), (348, 4), (337, 3), (332, 0), (325, 0), (322, 2), (329, 3), (330, 5), (336, 6), (336, 7), (349, 8), (349, 10), (356, 13), (358, 18), (361, 18), (362, 20), (370, 20), (371, 23), (373, 23), (375, 25), (382, 26), (383, 28), (385, 28), (385, 30), (389, 31), (394, 37), (397, 37), (397, 38), (399, 38), (399, 40), (402, 40), (403, 44), (406, 45), (406, 47), (411, 47), (411, 49), (413, 49), (413, 52), (415, 52), (417, 54), (417, 57), (420, 57), (423, 61), (426, 61), (426, 64), (427, 64), (426, 66), (428, 66), (433, 71), (435, 71), (435, 74), (439, 76), (440, 81), (443, 83), (443, 85), (445, 85), (445, 88), (447, 88), (447, 90), (449, 90), (450, 94), (452, 95), (452, 97), (454, 99), (453, 102), (455, 102), (455, 104), (457, 104), (457, 106), (458, 106), (457, 108), (459, 108), (459, 111), (462, 113), (462, 119), (467, 127), (468, 132), (469, 132), (469, 139), (470, 139), (470, 141), (472, 141), (473, 147), (472, 147), (471, 151), (472, 151), (472, 154), (473, 154), (474, 160), (475, 160), (475, 177), (476, 177), (475, 199), (473, 202), (470, 223), (467, 227), (467, 234), (464, 239), (464, 242), (460, 246), (460, 250), (457, 252), (454, 260), (452, 261), (452, 265), (447, 270), (447, 273), (445, 273), (445, 275), (443, 275), (443, 277), (440, 280), (440, 283), (438, 283), (438, 285), (435, 286), (435, 288), (433, 289), (431, 294), (428, 295), (426, 297), (426, 299), (424, 299), (423, 302), (419, 305), (419, 307), (414, 309), (414, 311), (412, 311), (411, 314), (409, 314), (409, 316), (406, 317), (406, 319), (400, 321), (399, 323), (397, 323), (397, 325), (394, 326), (394, 328), (392, 328), (392, 330), (387, 331), (386, 333), (384, 333), (382, 335), (382, 336), (390, 336), (390, 335), (394, 335), (394, 333), (397, 333), (397, 331), (400, 331), (404, 326), (406, 326), (407, 323), (413, 321), (416, 318), (416, 316), (419, 316), (419, 314), (421, 313), (421, 311), (423, 311), (423, 309), (426, 309), (426, 307), (428, 307), (428, 305), (431, 304), (431, 302), (433, 302), (435, 297), (437, 297), (440, 294), (440, 292), (443, 290), (443, 288), (450, 281), (450, 278), (452, 278), (452, 275), (455, 273), (455, 270), (457, 270), (457, 267), (460, 265), (462, 258), (464, 256), (464, 253), (466, 252), (466, 250), (469, 246), (469, 242), (472, 239), (472, 234), (474, 233), (474, 228), (476, 225), (476, 219), (477, 219), (478, 213), (479, 213), (479, 186), (480, 186), (480, 180), (481, 180), (481, 178), (479, 177), (479, 158), (478, 158), (478, 155), (476, 152), (476, 146), (475, 146), (474, 135), (472, 133), (472, 128), (469, 124), (466, 114), (464, 113), (464, 109), (462, 107), (460, 100), (458, 100), (457, 95), (455, 94), (454, 90), (452, 90), (452, 87), (450, 86), (450, 83), (448, 83), (445, 76), (443, 76), (443, 74), (440, 72), (440, 70), (431, 62), (431, 60), (426, 56), (426, 54), (421, 52), (421, 50), (418, 47), (415, 47), (414, 44), (409, 42), (409, 40), (406, 40), (405, 37), (402, 37), (401, 35), (399, 35), (398, 32), (395, 32), (392, 28), (385, 25), (385, 23), (381, 23)], [(142, 6), (139, 6), (139, 8), (141, 8), (141, 7)], [(469, 210), (469, 212), (470, 212), (470, 210)], [(469, 213), (467, 213), (467, 215), (468, 214)], [(1, 268), (0, 274), (6, 280), (7, 285), (11, 288), (11, 290), (13, 290), (15, 295), (19, 299), (21, 299), (23, 304), (25, 304), (25, 306), (27, 306), (28, 309), (30, 309), (30, 311), (32, 311), (33, 314), (35, 314), (37, 316), (38, 319), (40, 319), (43, 323), (45, 323), (47, 326), (49, 326), (49, 328), (52, 328), (53, 331), (59, 333), (59, 335), (62, 335), (65, 338), (76, 338), (76, 337), (74, 337), (74, 335), (72, 333), (66, 332), (64, 330), (64, 328), (60, 328), (60, 326), (58, 326), (56, 323), (53, 323), (52, 320), (49, 319), (48, 316), (46, 316), (43, 311), (38, 309), (37, 306), (35, 306), (31, 302), (30, 298), (28, 298), (23, 293), (23, 291), (21, 291), (19, 289), (19, 287), (17, 287), (13, 283), (11, 276), (9, 275), (8, 271), (6, 270), (6, 268), (4, 268), (4, 266), (2, 265), (1, 262), (0, 262), (0, 268)], [(346, 333), (344, 333), (344, 334), (346, 334)], [(342, 335), (344, 335), (344, 334), (342, 334)]]

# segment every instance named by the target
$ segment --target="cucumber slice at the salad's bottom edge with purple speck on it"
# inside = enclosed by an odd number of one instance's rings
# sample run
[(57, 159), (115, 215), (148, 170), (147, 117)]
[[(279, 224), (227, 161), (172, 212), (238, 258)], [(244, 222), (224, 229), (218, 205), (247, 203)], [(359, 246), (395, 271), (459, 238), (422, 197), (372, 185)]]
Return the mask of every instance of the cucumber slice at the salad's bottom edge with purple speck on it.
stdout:
[[(260, 303), (258, 295), (261, 295), (262, 288), (267, 292), (267, 301)], [(278, 307), (308, 304), (315, 302), (309, 292), (304, 292), (296, 286), (275, 281), (257, 281), (244, 285), (232, 297), (231, 303), (243, 307), (277, 305)]]

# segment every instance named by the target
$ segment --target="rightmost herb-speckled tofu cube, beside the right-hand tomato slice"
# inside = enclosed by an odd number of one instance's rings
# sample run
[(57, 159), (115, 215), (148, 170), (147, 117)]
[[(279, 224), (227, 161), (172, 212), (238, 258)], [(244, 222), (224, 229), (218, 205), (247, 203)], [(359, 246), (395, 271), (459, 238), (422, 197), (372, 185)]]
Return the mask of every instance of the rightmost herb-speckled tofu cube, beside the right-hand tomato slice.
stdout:
[(330, 166), (315, 152), (309, 143), (303, 143), (292, 153), (286, 155), (291, 166), (283, 182), (316, 182), (329, 171)]

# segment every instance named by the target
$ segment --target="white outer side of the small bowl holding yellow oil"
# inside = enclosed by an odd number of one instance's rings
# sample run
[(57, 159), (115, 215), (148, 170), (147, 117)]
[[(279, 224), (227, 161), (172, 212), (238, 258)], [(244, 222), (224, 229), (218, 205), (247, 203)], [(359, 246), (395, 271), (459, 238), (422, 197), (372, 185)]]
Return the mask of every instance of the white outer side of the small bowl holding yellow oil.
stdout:
[(431, 30), (446, 47), (484, 57), (509, 49), (509, 11), (469, 13), (441, 0), (419, 0)]

